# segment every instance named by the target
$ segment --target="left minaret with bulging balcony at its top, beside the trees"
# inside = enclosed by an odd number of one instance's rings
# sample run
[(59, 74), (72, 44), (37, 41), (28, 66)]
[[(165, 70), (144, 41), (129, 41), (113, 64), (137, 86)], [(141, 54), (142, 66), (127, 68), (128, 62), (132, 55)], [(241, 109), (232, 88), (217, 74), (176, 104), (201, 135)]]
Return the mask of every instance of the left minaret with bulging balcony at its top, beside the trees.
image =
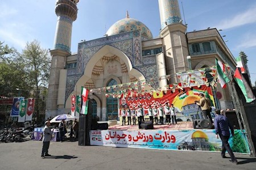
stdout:
[(58, 18), (54, 45), (53, 49), (50, 50), (52, 63), (46, 102), (46, 118), (57, 115), (60, 72), (66, 65), (67, 57), (71, 55), (72, 23), (77, 18), (76, 5), (78, 2), (79, 0), (56, 0), (55, 13)]

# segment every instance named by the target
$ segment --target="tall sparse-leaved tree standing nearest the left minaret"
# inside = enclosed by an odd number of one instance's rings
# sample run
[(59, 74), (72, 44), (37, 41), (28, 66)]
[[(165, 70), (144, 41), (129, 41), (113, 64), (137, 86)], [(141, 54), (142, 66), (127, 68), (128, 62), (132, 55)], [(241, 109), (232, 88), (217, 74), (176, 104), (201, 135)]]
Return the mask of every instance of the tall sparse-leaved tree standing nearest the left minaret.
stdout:
[(47, 87), (49, 79), (49, 70), (51, 59), (48, 56), (48, 50), (40, 47), (40, 42), (34, 40), (27, 42), (25, 48), (22, 50), (22, 54), (19, 56), (19, 62), (24, 64), (24, 70), (26, 72), (28, 84), (33, 88), (33, 94), (35, 100), (35, 113), (39, 120), (39, 112), (42, 104), (40, 98), (40, 91), (42, 87)]

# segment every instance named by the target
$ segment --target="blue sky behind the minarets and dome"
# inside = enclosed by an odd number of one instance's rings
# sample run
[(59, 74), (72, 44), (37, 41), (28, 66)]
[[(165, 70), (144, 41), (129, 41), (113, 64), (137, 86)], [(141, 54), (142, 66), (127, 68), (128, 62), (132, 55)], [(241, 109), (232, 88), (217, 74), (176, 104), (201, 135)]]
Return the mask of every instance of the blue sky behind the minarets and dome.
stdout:
[[(22, 52), (27, 42), (38, 40), (45, 49), (53, 48), (57, 16), (55, 0), (0, 0), (0, 41)], [(182, 2), (182, 5), (181, 5)], [(255, 0), (179, 0), (187, 31), (222, 29), (221, 36), (234, 57), (245, 52), (252, 84), (256, 81), (256, 1)], [(183, 7), (182, 7), (183, 6)], [(77, 53), (81, 40), (104, 37), (108, 29), (129, 11), (159, 35), (158, 0), (80, 0), (73, 22), (71, 52)], [(183, 15), (184, 13), (184, 15)]]

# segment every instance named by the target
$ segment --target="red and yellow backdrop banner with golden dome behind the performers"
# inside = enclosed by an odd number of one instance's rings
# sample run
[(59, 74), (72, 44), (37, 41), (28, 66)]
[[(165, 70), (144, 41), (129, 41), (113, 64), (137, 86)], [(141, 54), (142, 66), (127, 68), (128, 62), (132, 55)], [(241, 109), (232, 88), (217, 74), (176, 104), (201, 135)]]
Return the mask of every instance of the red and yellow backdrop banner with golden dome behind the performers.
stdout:
[[(138, 108), (139, 105), (142, 105), (144, 108), (144, 114), (147, 115), (147, 109), (149, 105), (152, 108), (164, 107), (166, 103), (174, 104), (174, 107), (177, 109), (177, 112), (183, 113), (184, 116), (191, 116), (197, 118), (197, 113), (199, 112), (198, 105), (195, 104), (195, 101), (199, 101), (199, 94), (204, 94), (205, 97), (209, 98), (211, 105), (214, 111), (214, 98), (211, 87), (195, 86), (192, 88), (186, 87), (181, 89), (173, 89), (167, 91), (161, 91), (159, 93), (154, 92), (154, 94), (145, 93), (144, 95), (139, 94), (138, 96), (128, 95), (122, 97), (119, 100), (119, 116), (121, 116), (122, 107), (129, 107), (132, 109)], [(201, 116), (201, 115), (200, 115)], [(213, 115), (214, 117), (214, 115)]]

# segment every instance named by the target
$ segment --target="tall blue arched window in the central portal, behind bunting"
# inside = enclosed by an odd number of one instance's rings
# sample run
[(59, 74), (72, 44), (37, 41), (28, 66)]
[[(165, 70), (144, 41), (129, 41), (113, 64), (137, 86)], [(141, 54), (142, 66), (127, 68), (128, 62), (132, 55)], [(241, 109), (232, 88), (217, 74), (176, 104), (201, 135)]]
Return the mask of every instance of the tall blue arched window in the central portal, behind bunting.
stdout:
[[(117, 85), (117, 81), (114, 79), (111, 79), (107, 86), (114, 86)], [(108, 91), (109, 93), (113, 92), (113, 89), (110, 89)], [(113, 98), (112, 96), (109, 96), (106, 99), (106, 114), (108, 115), (108, 120), (117, 120), (118, 118), (118, 104), (117, 104), (117, 98)]]

